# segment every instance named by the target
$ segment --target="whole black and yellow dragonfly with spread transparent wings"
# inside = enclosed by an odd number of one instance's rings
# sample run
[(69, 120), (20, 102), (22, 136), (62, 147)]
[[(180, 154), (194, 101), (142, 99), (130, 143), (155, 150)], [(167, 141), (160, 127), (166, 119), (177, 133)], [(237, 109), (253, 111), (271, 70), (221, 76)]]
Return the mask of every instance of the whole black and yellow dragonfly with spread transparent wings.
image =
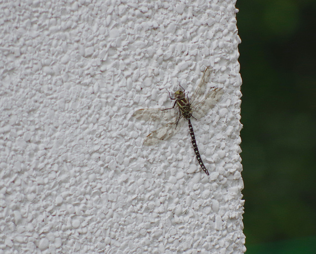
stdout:
[(182, 90), (176, 91), (174, 93), (174, 97), (171, 97), (168, 92), (170, 99), (175, 100), (173, 107), (143, 108), (133, 113), (133, 117), (138, 120), (159, 121), (161, 123), (167, 122), (162, 127), (151, 132), (145, 138), (143, 143), (145, 146), (156, 145), (162, 140), (167, 140), (176, 134), (184, 123), (188, 121), (194, 152), (200, 167), (206, 175), (209, 175), (209, 173), (197, 148), (197, 141), (191, 124), (191, 118), (198, 120), (205, 116), (224, 94), (224, 89), (213, 87), (211, 91), (205, 95), (206, 84), (209, 82), (210, 76), (211, 71), (209, 68), (206, 68), (196, 91), (191, 96), (191, 99), (189, 99), (188, 93), (186, 94), (185, 89), (179, 84)]

